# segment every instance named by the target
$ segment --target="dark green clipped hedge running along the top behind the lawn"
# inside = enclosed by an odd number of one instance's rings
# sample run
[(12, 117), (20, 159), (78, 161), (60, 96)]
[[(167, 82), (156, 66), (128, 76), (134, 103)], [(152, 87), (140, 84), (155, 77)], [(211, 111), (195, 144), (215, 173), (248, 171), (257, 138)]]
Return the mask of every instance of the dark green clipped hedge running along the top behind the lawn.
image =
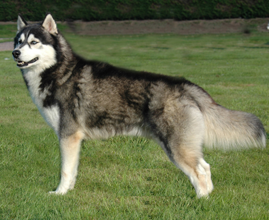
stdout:
[(268, 0), (2, 0), (0, 21), (15, 21), (21, 13), (40, 21), (51, 12), (58, 21), (128, 19), (220, 19), (269, 17)]

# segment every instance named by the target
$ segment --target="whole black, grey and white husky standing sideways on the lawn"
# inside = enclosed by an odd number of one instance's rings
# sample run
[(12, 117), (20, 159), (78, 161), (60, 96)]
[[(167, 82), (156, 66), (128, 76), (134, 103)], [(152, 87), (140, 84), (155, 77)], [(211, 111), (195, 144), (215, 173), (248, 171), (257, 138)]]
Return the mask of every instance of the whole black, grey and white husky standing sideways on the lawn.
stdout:
[(265, 147), (253, 114), (218, 105), (185, 78), (138, 72), (74, 54), (48, 13), (40, 24), (18, 15), (12, 52), (46, 122), (59, 137), (61, 181), (51, 193), (75, 185), (84, 138), (140, 135), (154, 139), (193, 184), (197, 197), (213, 190), (202, 146)]

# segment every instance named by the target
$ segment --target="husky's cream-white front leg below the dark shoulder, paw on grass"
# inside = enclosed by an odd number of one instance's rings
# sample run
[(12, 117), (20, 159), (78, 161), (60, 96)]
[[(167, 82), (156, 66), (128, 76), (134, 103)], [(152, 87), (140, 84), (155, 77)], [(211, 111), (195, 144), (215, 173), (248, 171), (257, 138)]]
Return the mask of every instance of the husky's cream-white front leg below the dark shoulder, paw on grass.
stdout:
[(80, 131), (60, 138), (60, 150), (62, 157), (61, 181), (57, 189), (50, 193), (65, 194), (75, 185), (78, 174), (80, 146), (84, 134)]

